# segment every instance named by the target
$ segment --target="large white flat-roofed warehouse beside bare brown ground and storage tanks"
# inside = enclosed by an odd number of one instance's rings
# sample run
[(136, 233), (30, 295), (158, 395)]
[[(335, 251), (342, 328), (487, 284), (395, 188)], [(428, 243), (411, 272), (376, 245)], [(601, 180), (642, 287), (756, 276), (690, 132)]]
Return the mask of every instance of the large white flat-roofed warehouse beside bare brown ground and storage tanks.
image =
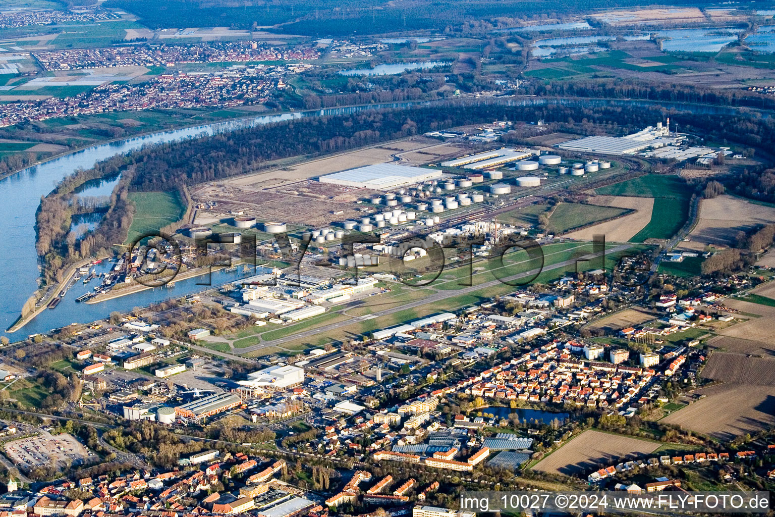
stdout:
[(391, 190), (402, 185), (440, 178), (442, 171), (397, 164), (376, 164), (321, 176), (318, 181), (372, 190)]

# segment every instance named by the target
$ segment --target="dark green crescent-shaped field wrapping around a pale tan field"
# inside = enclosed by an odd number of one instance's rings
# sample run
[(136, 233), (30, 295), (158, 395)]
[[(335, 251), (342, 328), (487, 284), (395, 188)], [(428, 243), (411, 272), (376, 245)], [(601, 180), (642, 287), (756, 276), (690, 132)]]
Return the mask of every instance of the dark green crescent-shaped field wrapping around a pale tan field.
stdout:
[(651, 220), (632, 237), (633, 243), (642, 243), (646, 239), (670, 239), (684, 226), (689, 214), (691, 190), (677, 176), (646, 174), (597, 188), (595, 193), (654, 198)]

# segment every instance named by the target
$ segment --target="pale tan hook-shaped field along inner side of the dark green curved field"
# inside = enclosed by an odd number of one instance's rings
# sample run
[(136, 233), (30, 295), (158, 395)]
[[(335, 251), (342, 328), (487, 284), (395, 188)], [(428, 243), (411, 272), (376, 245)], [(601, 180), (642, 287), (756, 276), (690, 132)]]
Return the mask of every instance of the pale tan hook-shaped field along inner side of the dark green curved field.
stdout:
[(601, 222), (568, 233), (566, 237), (578, 240), (592, 240), (595, 235), (605, 235), (605, 240), (608, 242), (628, 242), (649, 223), (654, 206), (653, 198), (636, 198), (632, 196), (598, 195), (590, 198), (589, 202), (592, 205), (616, 207), (633, 212), (622, 215), (618, 219)]

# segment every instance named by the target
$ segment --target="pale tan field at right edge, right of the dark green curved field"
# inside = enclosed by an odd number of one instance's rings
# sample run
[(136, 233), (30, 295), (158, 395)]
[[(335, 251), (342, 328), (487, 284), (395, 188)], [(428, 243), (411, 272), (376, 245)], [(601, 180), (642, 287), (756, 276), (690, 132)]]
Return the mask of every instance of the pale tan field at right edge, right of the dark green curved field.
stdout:
[(703, 199), (698, 222), (688, 235), (684, 247), (704, 250), (706, 246), (732, 246), (738, 232), (748, 232), (756, 226), (775, 222), (775, 209), (731, 195)]

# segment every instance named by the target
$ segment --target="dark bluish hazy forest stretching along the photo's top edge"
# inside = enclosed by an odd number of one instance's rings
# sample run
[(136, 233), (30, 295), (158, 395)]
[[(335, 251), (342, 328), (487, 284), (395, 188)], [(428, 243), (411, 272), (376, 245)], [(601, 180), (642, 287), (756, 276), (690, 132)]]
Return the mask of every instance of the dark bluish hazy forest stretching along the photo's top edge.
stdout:
[[(656, 4), (638, 0), (619, 0), (614, 5)], [(689, 0), (677, 0), (673, 5), (691, 4)], [(220, 3), (188, 2), (187, 0), (108, 0), (106, 8), (119, 8), (132, 12), (143, 25), (151, 29), (161, 27), (208, 27), (230, 26), (250, 29), (257, 26), (277, 26), (273, 32), (301, 34), (305, 36), (346, 36), (350, 34), (381, 34), (409, 30), (487, 30), (495, 28), (500, 17), (520, 16), (522, 19), (538, 18), (545, 13), (556, 16), (581, 14), (592, 9), (610, 8), (605, 0), (543, 0), (522, 2), (520, 0), (468, 0), (452, 2), (269, 2), (252, 0), (248, 2)], [(192, 9), (193, 8), (193, 9)]]

